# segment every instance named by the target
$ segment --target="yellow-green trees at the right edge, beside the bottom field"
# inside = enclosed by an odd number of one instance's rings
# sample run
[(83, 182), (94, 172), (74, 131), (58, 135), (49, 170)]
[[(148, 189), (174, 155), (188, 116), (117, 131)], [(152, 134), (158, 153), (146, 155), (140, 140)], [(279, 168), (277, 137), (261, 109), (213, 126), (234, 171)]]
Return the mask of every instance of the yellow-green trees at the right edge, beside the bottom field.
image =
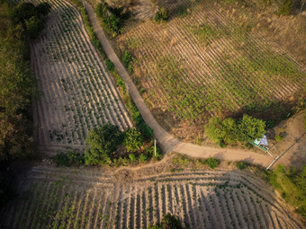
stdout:
[(268, 180), (295, 207), (296, 212), (306, 218), (306, 165), (297, 172), (294, 168), (288, 169), (279, 164), (273, 172), (268, 173)]

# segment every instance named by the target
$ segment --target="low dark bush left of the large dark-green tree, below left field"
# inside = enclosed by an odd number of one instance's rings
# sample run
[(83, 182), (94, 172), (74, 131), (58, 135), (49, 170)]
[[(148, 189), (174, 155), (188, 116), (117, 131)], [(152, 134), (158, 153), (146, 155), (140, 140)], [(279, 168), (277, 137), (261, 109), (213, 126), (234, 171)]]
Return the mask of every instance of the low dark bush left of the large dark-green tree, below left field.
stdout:
[(74, 151), (56, 154), (54, 160), (60, 166), (79, 166), (85, 163), (84, 155)]

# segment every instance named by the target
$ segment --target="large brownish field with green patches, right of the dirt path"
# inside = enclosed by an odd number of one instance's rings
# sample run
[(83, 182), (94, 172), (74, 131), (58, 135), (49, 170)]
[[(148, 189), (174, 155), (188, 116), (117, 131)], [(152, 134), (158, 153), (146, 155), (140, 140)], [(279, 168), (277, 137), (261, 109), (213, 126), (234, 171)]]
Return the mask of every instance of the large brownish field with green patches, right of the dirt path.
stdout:
[(202, 134), (215, 115), (282, 119), (302, 98), (305, 66), (255, 30), (243, 4), (162, 4), (168, 22), (134, 22), (116, 42), (134, 57), (131, 76), (148, 108), (176, 137)]

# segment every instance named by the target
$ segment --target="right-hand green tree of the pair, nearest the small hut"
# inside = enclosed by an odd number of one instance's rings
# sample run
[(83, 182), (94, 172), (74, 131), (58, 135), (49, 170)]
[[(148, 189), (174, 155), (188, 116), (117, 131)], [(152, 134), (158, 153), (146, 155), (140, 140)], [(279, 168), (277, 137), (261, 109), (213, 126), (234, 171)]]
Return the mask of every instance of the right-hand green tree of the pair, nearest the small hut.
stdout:
[(248, 115), (244, 115), (238, 121), (238, 141), (247, 142), (259, 137), (263, 137), (266, 132), (266, 123), (261, 119), (256, 119)]

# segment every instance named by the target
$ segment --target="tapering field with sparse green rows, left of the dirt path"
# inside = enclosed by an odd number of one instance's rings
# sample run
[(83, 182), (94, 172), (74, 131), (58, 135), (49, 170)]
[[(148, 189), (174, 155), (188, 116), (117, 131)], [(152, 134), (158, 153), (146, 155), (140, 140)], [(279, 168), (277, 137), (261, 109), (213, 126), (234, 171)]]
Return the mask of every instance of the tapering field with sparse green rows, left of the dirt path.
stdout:
[(46, 29), (31, 44), (41, 91), (34, 106), (35, 137), (43, 151), (82, 149), (90, 129), (110, 122), (123, 130), (132, 122), (81, 14), (66, 1), (49, 3)]

